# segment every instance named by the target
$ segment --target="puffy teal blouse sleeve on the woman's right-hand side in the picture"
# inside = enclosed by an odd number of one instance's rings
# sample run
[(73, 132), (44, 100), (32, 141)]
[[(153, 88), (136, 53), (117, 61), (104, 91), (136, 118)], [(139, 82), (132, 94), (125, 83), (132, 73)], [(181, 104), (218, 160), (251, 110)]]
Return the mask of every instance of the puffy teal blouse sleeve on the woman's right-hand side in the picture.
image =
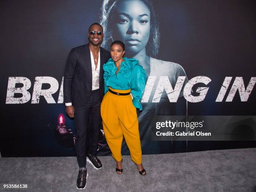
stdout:
[(133, 68), (131, 76), (131, 93), (133, 94), (133, 106), (142, 110), (141, 99), (146, 86), (146, 72), (142, 66), (137, 65)]

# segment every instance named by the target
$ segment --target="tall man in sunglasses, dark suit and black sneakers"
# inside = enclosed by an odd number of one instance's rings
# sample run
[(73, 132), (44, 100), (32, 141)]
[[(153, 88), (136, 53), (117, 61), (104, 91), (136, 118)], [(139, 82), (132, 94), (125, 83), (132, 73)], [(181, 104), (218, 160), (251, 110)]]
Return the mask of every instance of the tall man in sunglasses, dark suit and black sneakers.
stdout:
[[(63, 87), (66, 113), (70, 118), (74, 117), (76, 126), (75, 145), (79, 165), (77, 189), (86, 187), (86, 155), (87, 161), (95, 169), (102, 168), (96, 156), (101, 124), (100, 104), (104, 96), (102, 66), (110, 58), (110, 53), (100, 47), (104, 37), (102, 26), (93, 23), (87, 35), (89, 43), (73, 48), (69, 53)], [(86, 154), (88, 128), (90, 139)]]

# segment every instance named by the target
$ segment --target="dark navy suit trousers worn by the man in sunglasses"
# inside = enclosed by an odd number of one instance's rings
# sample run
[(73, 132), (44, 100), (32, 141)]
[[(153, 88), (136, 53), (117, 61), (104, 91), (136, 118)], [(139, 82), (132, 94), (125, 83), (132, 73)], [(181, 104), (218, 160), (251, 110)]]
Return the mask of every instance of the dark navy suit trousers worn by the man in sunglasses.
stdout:
[[(79, 167), (86, 167), (86, 145), (89, 139), (89, 153), (96, 155), (100, 132), (100, 91), (92, 91), (87, 103), (74, 109), (74, 123), (76, 126), (76, 153)], [(87, 135), (88, 133), (88, 135)], [(90, 136), (89, 138), (87, 138)]]

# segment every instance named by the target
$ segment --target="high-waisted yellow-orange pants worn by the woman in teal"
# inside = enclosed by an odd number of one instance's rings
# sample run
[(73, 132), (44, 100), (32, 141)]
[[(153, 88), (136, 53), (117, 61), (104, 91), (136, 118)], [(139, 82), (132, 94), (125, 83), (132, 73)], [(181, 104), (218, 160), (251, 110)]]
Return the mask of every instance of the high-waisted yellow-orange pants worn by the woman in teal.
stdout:
[[(131, 89), (110, 89), (116, 93), (129, 93), (131, 91)], [(100, 113), (104, 134), (113, 158), (118, 162), (122, 160), (121, 146), (124, 136), (131, 159), (136, 164), (141, 164), (142, 153), (138, 118), (131, 95), (118, 96), (108, 91), (102, 100)]]

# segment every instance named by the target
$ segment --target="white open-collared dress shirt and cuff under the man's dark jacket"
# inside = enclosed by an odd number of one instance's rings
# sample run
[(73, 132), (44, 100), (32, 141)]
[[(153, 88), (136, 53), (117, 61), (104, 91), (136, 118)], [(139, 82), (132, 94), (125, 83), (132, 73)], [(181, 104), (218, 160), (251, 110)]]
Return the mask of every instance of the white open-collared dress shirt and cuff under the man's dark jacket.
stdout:
[[(100, 51), (99, 51), (99, 57), (98, 57), (98, 64), (97, 68), (95, 70), (95, 63), (94, 63), (94, 57), (91, 53), (91, 64), (92, 64), (92, 90), (97, 90), (100, 88)], [(65, 103), (66, 106), (71, 106), (72, 103)]]

